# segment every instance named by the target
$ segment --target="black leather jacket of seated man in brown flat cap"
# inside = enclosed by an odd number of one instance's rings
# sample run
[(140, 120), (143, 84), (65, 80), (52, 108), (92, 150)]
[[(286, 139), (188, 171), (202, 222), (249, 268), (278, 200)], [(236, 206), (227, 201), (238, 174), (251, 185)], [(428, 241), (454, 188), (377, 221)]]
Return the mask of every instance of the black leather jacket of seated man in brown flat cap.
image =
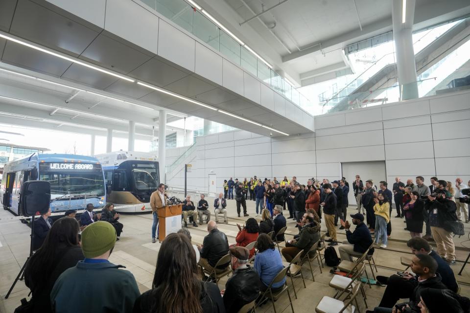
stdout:
[(258, 298), (258, 281), (258, 273), (249, 265), (248, 268), (235, 269), (234, 275), (225, 284), (225, 311), (237, 313), (242, 306)]

